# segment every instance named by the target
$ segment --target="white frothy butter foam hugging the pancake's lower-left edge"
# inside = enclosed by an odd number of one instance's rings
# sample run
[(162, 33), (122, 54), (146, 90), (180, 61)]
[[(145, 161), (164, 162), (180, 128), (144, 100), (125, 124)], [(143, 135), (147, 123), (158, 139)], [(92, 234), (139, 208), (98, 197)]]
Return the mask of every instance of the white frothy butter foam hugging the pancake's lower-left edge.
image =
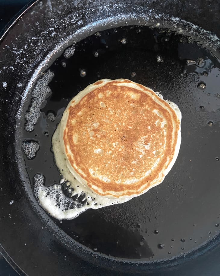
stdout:
[[(62, 171), (63, 176), (60, 180), (62, 184), (45, 187), (44, 176), (42, 174), (34, 176), (34, 194), (45, 211), (56, 219), (74, 219), (88, 209), (99, 209), (129, 200), (129, 198), (119, 200), (99, 196), (78, 182), (67, 167), (64, 154), (61, 150), (59, 132), (60, 124), (53, 135), (52, 145), (56, 164), (60, 171)], [(64, 195), (62, 187), (68, 192), (69, 197)]]

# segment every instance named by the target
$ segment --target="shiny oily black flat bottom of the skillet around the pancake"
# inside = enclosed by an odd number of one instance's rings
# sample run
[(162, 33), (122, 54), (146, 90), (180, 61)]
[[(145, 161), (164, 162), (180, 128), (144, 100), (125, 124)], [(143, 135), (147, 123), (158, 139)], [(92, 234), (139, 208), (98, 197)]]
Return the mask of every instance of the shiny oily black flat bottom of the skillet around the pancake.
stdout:
[[(182, 112), (182, 142), (178, 159), (161, 185), (127, 203), (90, 209), (61, 224), (54, 221), (94, 251), (131, 261), (170, 258), (212, 239), (220, 222), (218, 60), (188, 43), (187, 37), (141, 26), (104, 31), (74, 47), (73, 56), (61, 56), (51, 66), (52, 94), (34, 131), (24, 131), (24, 140), (34, 139), (40, 145), (33, 160), (26, 158), (30, 179), (42, 173), (46, 185), (59, 183), (51, 150), (56, 125), (69, 100), (102, 78), (131, 79), (176, 103)], [(163, 62), (158, 62), (158, 56)], [(80, 76), (82, 69), (86, 74)]]

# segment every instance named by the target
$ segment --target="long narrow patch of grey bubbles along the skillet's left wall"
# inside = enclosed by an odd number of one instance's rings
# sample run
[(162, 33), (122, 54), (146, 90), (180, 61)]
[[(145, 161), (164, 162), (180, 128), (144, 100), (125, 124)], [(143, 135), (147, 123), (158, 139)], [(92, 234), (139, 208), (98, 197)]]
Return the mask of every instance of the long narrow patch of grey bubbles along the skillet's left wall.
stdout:
[(34, 130), (37, 120), (40, 117), (40, 107), (45, 101), (46, 97), (51, 94), (51, 89), (48, 84), (52, 80), (54, 73), (50, 70), (46, 71), (42, 77), (37, 80), (31, 94), (31, 104), (28, 111), (25, 112), (26, 123), (24, 129), (27, 132)]

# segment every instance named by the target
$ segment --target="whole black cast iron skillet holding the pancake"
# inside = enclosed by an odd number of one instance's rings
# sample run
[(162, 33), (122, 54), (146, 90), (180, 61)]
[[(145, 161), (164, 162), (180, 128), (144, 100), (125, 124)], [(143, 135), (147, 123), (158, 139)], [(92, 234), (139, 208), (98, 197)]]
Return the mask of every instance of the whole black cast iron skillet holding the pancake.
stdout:
[[(21, 275), (220, 272), (219, 40), (176, 17), (219, 36), (218, 1), (209, 6), (205, 1), (58, 0), (37, 1), (3, 35), (1, 245)], [(62, 67), (61, 54), (74, 41), (77, 50)], [(99, 58), (93, 56), (97, 49)], [(195, 64), (187, 65), (194, 59)], [(27, 133), (24, 112), (34, 83), (49, 66), (55, 73), (49, 84), (52, 95), (42, 106), (42, 124)], [(80, 77), (80, 68), (86, 77)], [(105, 77), (132, 79), (178, 104), (183, 115), (180, 154), (162, 185), (145, 195), (61, 223), (39, 207), (33, 175), (47, 174), (46, 185), (59, 181), (50, 151), (58, 110), (89, 83)], [(206, 83), (204, 90), (201, 82)], [(46, 118), (50, 110), (57, 116), (54, 124)], [(41, 148), (28, 161), (21, 142), (36, 137)]]

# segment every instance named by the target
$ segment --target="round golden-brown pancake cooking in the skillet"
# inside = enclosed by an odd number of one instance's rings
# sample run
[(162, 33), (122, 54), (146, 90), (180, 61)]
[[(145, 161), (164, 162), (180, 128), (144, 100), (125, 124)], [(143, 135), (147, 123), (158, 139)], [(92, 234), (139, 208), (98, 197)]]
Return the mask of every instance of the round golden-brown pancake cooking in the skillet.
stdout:
[(99, 80), (64, 111), (59, 140), (53, 137), (56, 163), (63, 170), (64, 160), (86, 190), (121, 203), (164, 180), (178, 156), (180, 123), (178, 106), (152, 89), (125, 79)]

